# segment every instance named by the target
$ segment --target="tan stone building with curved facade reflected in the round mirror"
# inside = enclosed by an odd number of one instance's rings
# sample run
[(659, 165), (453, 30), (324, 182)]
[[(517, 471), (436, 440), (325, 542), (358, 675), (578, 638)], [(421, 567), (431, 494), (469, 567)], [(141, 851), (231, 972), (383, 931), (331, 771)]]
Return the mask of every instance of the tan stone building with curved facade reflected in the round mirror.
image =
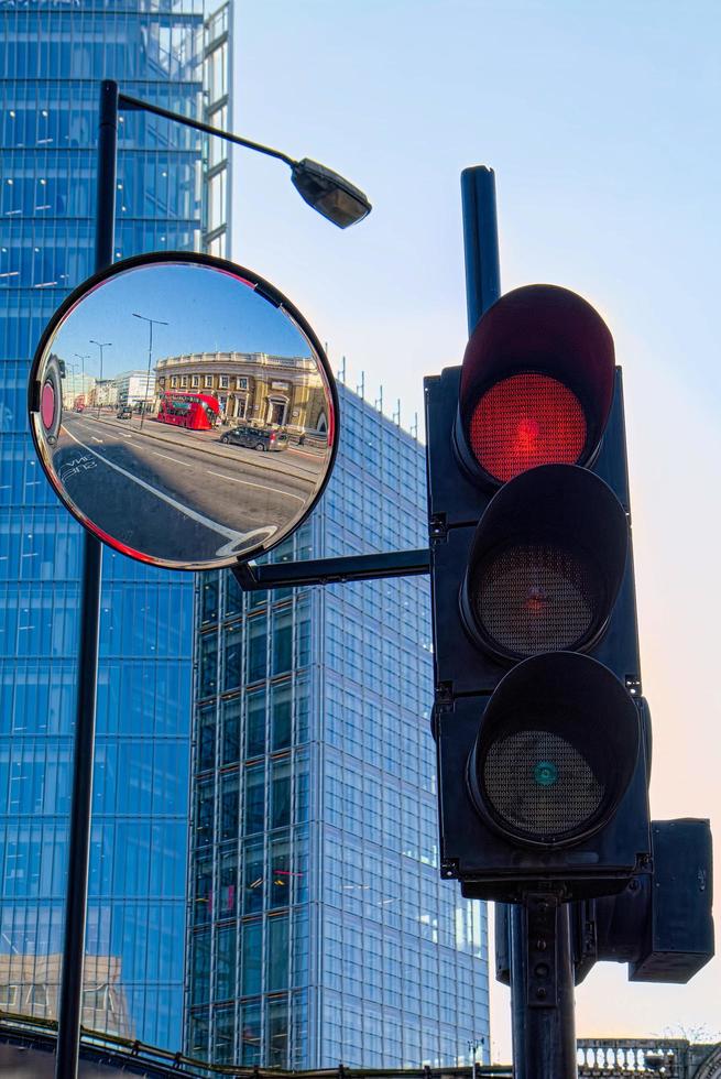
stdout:
[(155, 374), (161, 392), (212, 394), (227, 423), (282, 426), (298, 436), (328, 432), (326, 395), (308, 357), (196, 352), (160, 360)]

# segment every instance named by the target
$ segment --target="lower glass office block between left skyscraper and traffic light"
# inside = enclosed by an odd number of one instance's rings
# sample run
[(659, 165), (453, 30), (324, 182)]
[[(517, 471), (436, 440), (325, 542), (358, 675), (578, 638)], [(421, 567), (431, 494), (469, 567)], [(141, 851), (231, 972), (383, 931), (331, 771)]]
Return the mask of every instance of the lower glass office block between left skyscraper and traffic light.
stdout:
[[(275, 560), (427, 544), (423, 447), (339, 392), (334, 476)], [(197, 588), (186, 1051), (488, 1061), (485, 906), (438, 871), (427, 579)]]

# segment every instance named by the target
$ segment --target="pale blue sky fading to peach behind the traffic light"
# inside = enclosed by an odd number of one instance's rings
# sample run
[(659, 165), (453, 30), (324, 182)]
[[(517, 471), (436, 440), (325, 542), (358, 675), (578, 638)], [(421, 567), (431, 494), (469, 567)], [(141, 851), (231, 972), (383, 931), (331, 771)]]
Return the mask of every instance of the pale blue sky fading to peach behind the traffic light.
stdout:
[[(614, 336), (652, 814), (710, 817), (721, 844), (720, 34), (715, 0), (239, 0), (233, 130), (335, 168), (373, 211), (341, 231), (283, 164), (236, 151), (232, 237), (334, 370), (346, 357), (348, 384), (364, 372), (423, 435), (423, 375), (468, 337), (460, 173), (495, 171), (503, 291), (565, 285)], [(599, 964), (577, 1034), (719, 1037), (720, 999), (719, 959), (686, 987)], [(509, 1009), (493, 982), (495, 1060)]]

